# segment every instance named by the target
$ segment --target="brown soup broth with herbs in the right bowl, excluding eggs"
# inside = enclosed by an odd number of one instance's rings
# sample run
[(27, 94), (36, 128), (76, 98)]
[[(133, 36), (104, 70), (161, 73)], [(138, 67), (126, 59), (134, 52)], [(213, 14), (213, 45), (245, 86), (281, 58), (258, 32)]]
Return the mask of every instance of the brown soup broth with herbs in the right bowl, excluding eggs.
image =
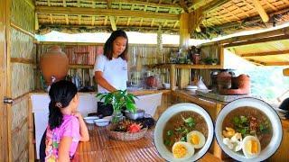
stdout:
[(266, 114), (249, 106), (239, 107), (229, 112), (222, 123), (222, 130), (226, 127), (241, 133), (243, 139), (247, 135), (256, 136), (262, 149), (266, 148), (273, 135), (272, 125)]

